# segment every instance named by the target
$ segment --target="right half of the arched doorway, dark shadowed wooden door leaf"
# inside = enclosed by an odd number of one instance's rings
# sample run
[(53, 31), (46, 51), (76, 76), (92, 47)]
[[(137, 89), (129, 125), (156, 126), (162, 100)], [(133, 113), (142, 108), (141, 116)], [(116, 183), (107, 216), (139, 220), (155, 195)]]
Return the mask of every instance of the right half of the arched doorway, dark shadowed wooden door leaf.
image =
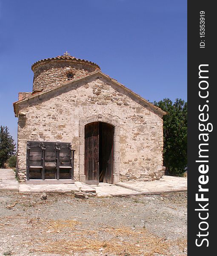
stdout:
[(106, 182), (112, 184), (113, 178), (113, 163), (114, 163), (114, 128), (107, 123), (100, 123), (102, 128), (100, 129), (100, 149), (101, 149), (101, 170), (100, 170), (100, 182)]

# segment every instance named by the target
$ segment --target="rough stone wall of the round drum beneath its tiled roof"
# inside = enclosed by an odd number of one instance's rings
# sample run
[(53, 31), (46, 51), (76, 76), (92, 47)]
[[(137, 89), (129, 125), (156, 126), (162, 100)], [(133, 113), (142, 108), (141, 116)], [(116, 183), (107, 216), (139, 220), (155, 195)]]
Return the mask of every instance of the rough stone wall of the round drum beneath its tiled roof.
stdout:
[(95, 66), (72, 61), (55, 61), (43, 63), (34, 69), (33, 92), (47, 90), (69, 82), (67, 74), (72, 73), (74, 79), (94, 72)]

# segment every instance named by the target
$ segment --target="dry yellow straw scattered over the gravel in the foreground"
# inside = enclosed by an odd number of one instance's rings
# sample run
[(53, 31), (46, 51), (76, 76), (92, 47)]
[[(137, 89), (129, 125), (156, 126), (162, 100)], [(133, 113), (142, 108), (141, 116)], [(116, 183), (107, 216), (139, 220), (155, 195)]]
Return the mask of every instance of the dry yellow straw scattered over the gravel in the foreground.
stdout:
[[(96, 253), (113, 253), (118, 256), (154, 256), (155, 253), (172, 255), (169, 253), (171, 246), (179, 246), (184, 250), (186, 241), (168, 241), (163, 237), (155, 236), (146, 229), (133, 230), (128, 227), (103, 227), (99, 230), (81, 230), (75, 228), (80, 224), (74, 220), (57, 220), (47, 222), (47, 227), (53, 232), (61, 234), (61, 230), (69, 229), (79, 236), (72, 236), (70, 239), (43, 239), (37, 241), (40, 245), (34, 251), (44, 253), (58, 253), (60, 255), (73, 255), (74, 252), (94, 251)], [(98, 236), (99, 232), (107, 233), (109, 240), (103, 240)], [(94, 233), (96, 238), (86, 236), (87, 233)]]

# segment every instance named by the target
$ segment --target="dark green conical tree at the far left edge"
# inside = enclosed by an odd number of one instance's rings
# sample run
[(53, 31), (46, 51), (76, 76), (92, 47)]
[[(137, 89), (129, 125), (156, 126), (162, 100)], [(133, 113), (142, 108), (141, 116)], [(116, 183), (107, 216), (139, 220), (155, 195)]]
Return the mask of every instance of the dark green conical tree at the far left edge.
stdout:
[(4, 168), (6, 161), (15, 154), (15, 143), (7, 126), (0, 127), (0, 168)]

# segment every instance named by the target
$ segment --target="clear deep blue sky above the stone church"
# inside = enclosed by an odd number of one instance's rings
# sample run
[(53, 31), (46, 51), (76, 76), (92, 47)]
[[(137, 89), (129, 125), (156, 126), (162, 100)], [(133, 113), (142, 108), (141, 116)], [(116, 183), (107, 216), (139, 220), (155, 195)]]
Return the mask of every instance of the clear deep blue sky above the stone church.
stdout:
[(187, 0), (0, 0), (0, 125), (15, 141), (31, 65), (66, 51), (151, 102), (187, 101)]

